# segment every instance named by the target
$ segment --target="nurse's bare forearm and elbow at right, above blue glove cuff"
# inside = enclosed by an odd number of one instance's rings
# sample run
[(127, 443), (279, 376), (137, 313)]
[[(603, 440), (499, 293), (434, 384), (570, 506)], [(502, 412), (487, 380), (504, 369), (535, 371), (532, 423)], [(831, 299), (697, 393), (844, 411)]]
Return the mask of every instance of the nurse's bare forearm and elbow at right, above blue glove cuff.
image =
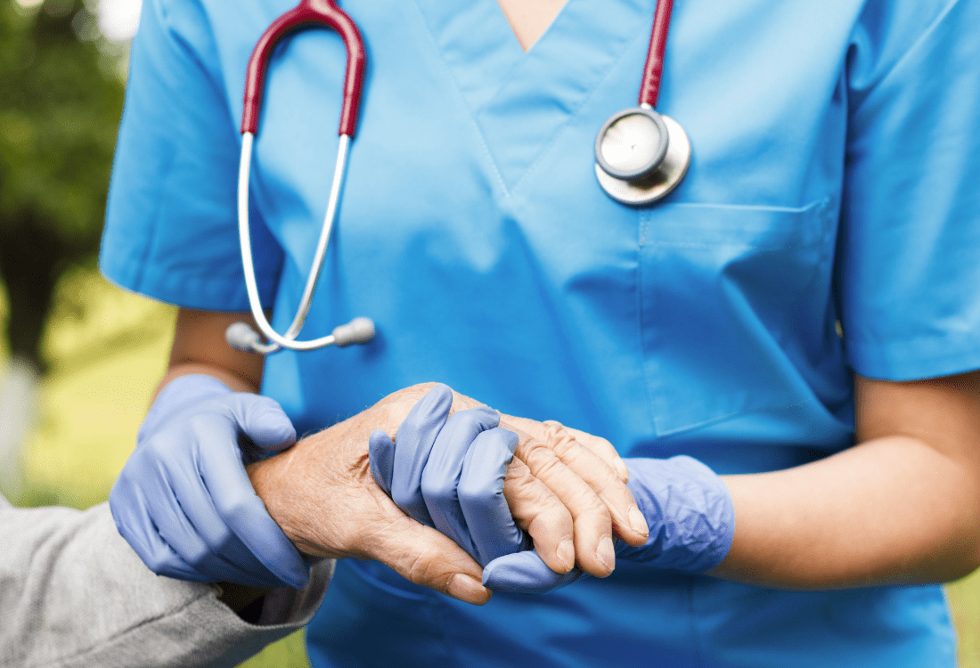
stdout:
[(804, 466), (724, 478), (735, 538), (711, 575), (827, 589), (947, 582), (976, 569), (978, 385), (972, 374), (914, 384), (858, 379), (864, 442)]

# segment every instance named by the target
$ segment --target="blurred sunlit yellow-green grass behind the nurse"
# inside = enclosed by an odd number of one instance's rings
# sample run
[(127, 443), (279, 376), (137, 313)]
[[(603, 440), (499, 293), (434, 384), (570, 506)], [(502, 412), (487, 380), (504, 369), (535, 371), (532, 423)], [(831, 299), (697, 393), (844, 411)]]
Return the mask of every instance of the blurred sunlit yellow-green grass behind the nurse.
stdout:
[[(4, 312), (0, 295), (0, 321)], [(45, 340), (52, 367), (25, 452), (22, 503), (84, 508), (106, 500), (164, 372), (173, 316), (94, 271), (66, 277)], [(980, 668), (980, 571), (948, 593), (961, 666)], [(242, 665), (305, 668), (303, 636), (293, 634)]]

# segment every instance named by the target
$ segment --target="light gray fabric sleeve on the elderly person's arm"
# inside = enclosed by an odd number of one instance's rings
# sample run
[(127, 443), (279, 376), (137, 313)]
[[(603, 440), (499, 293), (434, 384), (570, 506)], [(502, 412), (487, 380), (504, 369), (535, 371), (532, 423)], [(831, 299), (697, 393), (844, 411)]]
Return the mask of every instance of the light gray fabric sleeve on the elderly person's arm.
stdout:
[(0, 665), (234, 666), (310, 621), (333, 562), (301, 591), (273, 590), (260, 625), (214, 585), (150, 572), (105, 503), (14, 508), (0, 497)]

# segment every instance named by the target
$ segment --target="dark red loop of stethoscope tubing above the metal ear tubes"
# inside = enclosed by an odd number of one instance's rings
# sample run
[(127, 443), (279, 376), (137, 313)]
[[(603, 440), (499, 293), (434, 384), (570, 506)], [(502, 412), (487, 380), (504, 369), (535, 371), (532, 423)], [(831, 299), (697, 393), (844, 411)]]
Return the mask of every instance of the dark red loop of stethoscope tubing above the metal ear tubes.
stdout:
[(358, 126), (361, 88), (364, 85), (365, 43), (357, 24), (334, 0), (300, 0), (300, 4), (276, 19), (263, 33), (252, 51), (245, 75), (245, 107), (242, 111), (242, 134), (256, 134), (259, 111), (266, 80), (266, 68), (276, 44), (291, 32), (308, 27), (331, 27), (344, 40), (347, 49), (347, 72), (344, 76), (344, 105), (340, 112), (339, 134), (353, 137)]

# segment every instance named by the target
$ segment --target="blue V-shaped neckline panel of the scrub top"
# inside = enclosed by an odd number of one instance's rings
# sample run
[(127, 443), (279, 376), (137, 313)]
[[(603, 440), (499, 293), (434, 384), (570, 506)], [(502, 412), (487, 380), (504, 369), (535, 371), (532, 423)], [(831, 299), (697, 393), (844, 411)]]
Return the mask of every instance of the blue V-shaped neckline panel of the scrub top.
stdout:
[(567, 0), (525, 53), (497, 0), (416, 2), (508, 193), (623, 52), (649, 35), (655, 5)]

